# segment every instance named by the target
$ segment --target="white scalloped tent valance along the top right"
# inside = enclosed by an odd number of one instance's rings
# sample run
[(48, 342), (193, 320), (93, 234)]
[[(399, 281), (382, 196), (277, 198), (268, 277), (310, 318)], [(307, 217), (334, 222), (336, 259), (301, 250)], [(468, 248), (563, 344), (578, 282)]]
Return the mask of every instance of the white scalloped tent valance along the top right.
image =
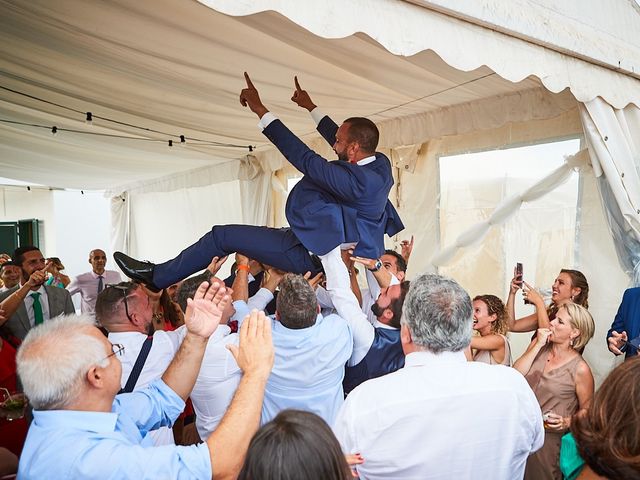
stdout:
[[(454, 11), (456, 5), (453, 2), (325, 0), (322, 8), (300, 8), (300, 2), (296, 0), (198, 1), (219, 12), (237, 17), (274, 10), (323, 38), (343, 38), (363, 32), (395, 55), (411, 56), (430, 49), (458, 70), (470, 71), (486, 65), (512, 82), (535, 75), (552, 92), (569, 88), (580, 102), (601, 96), (617, 108), (630, 102), (640, 105), (638, 79), (614, 71), (613, 68), (618, 68), (619, 65), (605, 68), (596, 62), (588, 62), (577, 56), (486, 28), (481, 25), (489, 23), (486, 19), (474, 19), (477, 23), (464, 21), (433, 8), (438, 4), (445, 4), (450, 11)], [(527, 5), (537, 12), (544, 10), (536, 2), (528, 2)], [(632, 8), (630, 5), (628, 7)], [(486, 15), (493, 13), (497, 19), (500, 9), (494, 5), (486, 5), (477, 10)], [(340, 15), (332, 12), (340, 12)], [(616, 13), (624, 15), (622, 9)], [(633, 11), (631, 13), (635, 14)], [(510, 14), (523, 20), (517, 13)], [(584, 24), (575, 21), (561, 22), (562, 15), (553, 15), (551, 9), (546, 9), (546, 14), (563, 26), (564, 39), (550, 38), (541, 41), (546, 41), (551, 46), (553, 42), (566, 42), (567, 39), (572, 41), (584, 36)], [(461, 16), (465, 16), (464, 13)], [(473, 15), (467, 15), (467, 18), (473, 19)], [(631, 16), (631, 19), (634, 17)], [(589, 31), (590, 34), (592, 31), (593, 28)], [(619, 55), (616, 58), (631, 58), (640, 62), (636, 45), (622, 41), (618, 41), (617, 45), (622, 50), (616, 52)], [(562, 44), (557, 47), (559, 50), (568, 50), (562, 48)], [(596, 49), (597, 47), (595, 45)], [(633, 61), (628, 66), (630, 72), (635, 68)]]

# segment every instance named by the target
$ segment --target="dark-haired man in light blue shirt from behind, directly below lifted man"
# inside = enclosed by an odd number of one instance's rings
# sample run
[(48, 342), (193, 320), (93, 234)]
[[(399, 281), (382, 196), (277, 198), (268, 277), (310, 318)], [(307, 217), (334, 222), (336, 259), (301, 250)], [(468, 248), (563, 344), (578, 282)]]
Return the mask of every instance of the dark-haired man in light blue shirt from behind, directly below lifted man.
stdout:
[(262, 408), (262, 423), (285, 408), (307, 410), (329, 425), (344, 402), (344, 365), (351, 357), (349, 324), (337, 315), (323, 317), (315, 293), (301, 275), (280, 284), (273, 320), (275, 362)]

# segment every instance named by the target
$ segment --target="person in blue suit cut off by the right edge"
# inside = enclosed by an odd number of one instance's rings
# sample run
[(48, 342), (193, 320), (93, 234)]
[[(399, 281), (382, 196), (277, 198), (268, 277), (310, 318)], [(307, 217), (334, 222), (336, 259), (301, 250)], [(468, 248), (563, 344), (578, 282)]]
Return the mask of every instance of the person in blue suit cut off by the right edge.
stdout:
[(622, 303), (607, 332), (607, 346), (614, 355), (625, 353), (625, 359), (638, 354), (630, 339), (640, 336), (640, 287), (629, 288), (622, 295)]

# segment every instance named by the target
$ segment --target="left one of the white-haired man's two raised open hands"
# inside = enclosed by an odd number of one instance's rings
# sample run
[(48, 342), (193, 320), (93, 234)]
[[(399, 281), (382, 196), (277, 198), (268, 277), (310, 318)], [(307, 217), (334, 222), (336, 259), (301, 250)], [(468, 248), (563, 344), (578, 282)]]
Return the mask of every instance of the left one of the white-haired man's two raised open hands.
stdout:
[(208, 282), (202, 282), (193, 299), (187, 299), (184, 323), (189, 333), (209, 338), (218, 328), (222, 312), (230, 301), (223, 284), (214, 281), (209, 285)]

